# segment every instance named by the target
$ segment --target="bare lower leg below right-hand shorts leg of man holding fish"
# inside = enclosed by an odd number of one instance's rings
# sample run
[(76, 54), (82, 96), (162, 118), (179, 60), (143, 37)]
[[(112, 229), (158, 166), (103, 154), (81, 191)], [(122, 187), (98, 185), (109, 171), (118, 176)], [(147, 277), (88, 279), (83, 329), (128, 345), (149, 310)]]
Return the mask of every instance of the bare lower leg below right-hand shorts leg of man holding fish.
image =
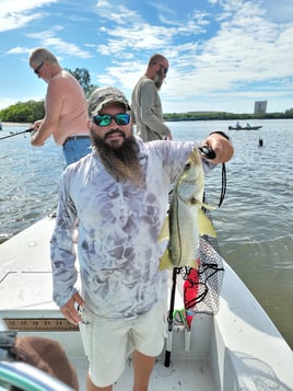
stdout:
[(133, 391), (148, 391), (150, 377), (155, 363), (155, 357), (145, 356), (142, 353), (134, 350), (132, 354), (132, 358), (134, 372)]

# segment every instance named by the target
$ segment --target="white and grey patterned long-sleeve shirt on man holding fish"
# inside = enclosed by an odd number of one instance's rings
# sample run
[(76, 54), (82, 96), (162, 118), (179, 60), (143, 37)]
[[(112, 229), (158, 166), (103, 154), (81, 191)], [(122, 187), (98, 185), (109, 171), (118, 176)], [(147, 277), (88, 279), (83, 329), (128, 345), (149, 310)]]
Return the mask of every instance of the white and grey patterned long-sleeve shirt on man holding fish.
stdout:
[[(77, 258), (81, 295), (99, 317), (136, 318), (166, 296), (166, 272), (157, 271), (166, 242), (157, 243), (157, 237), (166, 217), (169, 185), (196, 143), (138, 139), (138, 145), (140, 186), (117, 182), (95, 153), (62, 174), (51, 239), (54, 300), (59, 307), (80, 289)], [(77, 219), (78, 256), (72, 242)]]

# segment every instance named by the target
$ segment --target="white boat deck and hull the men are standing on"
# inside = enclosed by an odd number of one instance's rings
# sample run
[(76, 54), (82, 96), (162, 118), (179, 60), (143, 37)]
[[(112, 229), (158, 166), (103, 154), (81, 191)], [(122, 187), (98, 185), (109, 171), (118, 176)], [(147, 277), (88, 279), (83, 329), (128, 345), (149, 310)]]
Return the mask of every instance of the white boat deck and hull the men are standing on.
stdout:
[[(45, 218), (0, 245), (0, 318), (9, 320), (10, 327), (23, 330), (21, 335), (60, 342), (84, 390), (87, 361), (80, 333), (61, 331), (67, 326), (51, 300), (49, 238), (54, 222)], [(226, 263), (224, 268), (219, 313), (195, 315), (190, 350), (185, 350), (187, 332), (175, 326), (171, 366), (164, 366), (163, 352), (150, 391), (293, 390), (291, 348)], [(176, 306), (183, 308), (179, 297), (177, 300)], [(38, 331), (42, 327), (47, 329)], [(129, 361), (114, 390), (129, 391), (131, 387)]]

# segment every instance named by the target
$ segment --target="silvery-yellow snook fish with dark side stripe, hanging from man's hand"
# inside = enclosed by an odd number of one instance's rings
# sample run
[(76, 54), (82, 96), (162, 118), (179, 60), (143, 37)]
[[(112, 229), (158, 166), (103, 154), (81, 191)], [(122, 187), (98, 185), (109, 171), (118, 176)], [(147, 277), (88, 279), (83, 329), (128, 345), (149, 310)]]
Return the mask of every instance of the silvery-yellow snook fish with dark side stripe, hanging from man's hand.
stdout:
[(198, 268), (198, 237), (204, 233), (216, 237), (211, 221), (202, 210), (202, 206), (212, 209), (202, 203), (203, 187), (201, 158), (198, 150), (194, 149), (174, 187), (169, 211), (159, 235), (159, 242), (168, 239), (166, 251), (161, 257), (160, 271), (174, 266)]

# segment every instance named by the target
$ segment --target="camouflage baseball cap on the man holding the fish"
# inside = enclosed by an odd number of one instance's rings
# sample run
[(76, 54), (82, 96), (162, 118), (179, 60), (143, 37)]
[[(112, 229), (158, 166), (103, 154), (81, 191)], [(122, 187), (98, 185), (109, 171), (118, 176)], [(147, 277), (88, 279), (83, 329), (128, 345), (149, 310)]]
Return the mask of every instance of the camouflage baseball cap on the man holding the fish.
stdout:
[(122, 103), (126, 111), (130, 111), (130, 105), (124, 93), (114, 87), (102, 87), (91, 94), (89, 100), (89, 114), (90, 116), (97, 115), (103, 107), (113, 102)]

